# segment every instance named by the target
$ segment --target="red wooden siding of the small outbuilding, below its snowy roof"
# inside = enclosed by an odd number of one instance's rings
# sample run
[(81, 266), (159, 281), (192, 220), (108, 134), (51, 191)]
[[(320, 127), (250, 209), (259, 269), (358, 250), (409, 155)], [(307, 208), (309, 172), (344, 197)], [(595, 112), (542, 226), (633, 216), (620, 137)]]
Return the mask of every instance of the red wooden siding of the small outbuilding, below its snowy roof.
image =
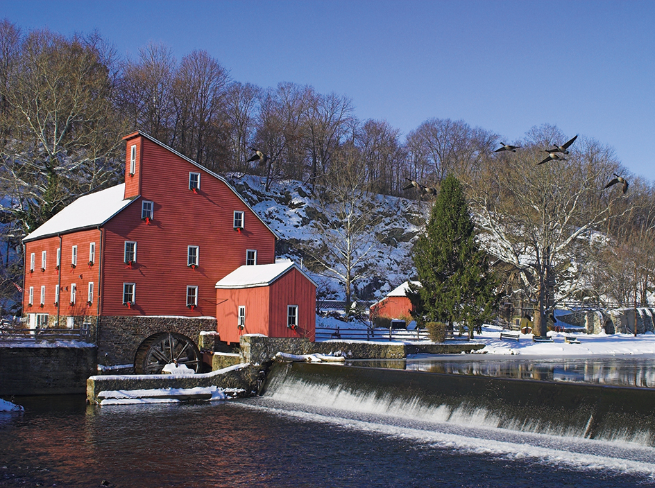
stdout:
[[(246, 306), (246, 324), (237, 327), (239, 306)], [(287, 305), (298, 305), (298, 330), (287, 327)], [(216, 330), (221, 340), (239, 342), (243, 334), (269, 337), (316, 336), (316, 287), (295, 268), (270, 286), (216, 290)]]

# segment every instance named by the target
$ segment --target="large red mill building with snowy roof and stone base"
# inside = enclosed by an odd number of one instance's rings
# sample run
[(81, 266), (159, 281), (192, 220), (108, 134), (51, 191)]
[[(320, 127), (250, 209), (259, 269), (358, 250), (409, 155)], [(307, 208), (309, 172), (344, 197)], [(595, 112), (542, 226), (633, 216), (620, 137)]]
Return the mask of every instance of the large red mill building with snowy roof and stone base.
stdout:
[[(153, 333), (195, 342), (216, 331), (216, 283), (274, 265), (277, 239), (223, 177), (143, 132), (124, 140), (124, 184), (78, 198), (24, 238), (28, 324), (89, 329), (108, 365), (131, 362)], [(314, 311), (315, 296), (293, 304)]]

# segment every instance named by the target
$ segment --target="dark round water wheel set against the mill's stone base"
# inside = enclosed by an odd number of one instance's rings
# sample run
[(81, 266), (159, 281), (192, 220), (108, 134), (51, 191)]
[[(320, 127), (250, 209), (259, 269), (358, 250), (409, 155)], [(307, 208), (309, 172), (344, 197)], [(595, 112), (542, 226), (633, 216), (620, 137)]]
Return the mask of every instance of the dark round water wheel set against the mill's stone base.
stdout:
[(196, 343), (176, 332), (163, 332), (150, 336), (141, 343), (134, 357), (136, 374), (160, 374), (170, 363), (185, 365), (194, 372), (201, 372), (202, 356)]

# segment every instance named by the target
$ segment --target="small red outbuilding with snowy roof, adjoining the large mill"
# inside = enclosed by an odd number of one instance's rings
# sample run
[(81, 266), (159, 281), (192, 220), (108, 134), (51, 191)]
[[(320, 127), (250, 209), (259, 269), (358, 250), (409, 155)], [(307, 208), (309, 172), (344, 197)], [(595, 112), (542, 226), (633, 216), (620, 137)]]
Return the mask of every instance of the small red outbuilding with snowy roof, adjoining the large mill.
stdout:
[(244, 265), (216, 283), (216, 330), (235, 343), (244, 334), (316, 336), (316, 283), (291, 261)]

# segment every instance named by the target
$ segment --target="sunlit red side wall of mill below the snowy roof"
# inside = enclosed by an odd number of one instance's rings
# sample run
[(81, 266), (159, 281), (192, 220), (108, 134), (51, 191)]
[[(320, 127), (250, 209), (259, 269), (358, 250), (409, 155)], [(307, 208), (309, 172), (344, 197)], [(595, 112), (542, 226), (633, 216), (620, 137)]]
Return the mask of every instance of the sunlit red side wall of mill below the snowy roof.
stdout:
[[(95, 260), (89, 263), (90, 243), (96, 243)], [(48, 313), (49, 315), (98, 315), (101, 260), (101, 231), (92, 229), (61, 236), (61, 267), (57, 269), (57, 250), (59, 236), (40, 239), (25, 244), (25, 293), (23, 296), (24, 313)], [(73, 268), (72, 248), (77, 245), (77, 265)], [(46, 251), (46, 269), (41, 270), (41, 252)], [(34, 271), (30, 272), (30, 256), (35, 254)], [(89, 282), (94, 284), (92, 304), (87, 303)], [(55, 304), (55, 286), (60, 284), (59, 305)], [(71, 305), (71, 284), (76, 284), (76, 300)], [(41, 286), (45, 289), (45, 303), (40, 306)], [(29, 306), (29, 287), (34, 288), (34, 299)], [(63, 325), (63, 324), (60, 324)]]

